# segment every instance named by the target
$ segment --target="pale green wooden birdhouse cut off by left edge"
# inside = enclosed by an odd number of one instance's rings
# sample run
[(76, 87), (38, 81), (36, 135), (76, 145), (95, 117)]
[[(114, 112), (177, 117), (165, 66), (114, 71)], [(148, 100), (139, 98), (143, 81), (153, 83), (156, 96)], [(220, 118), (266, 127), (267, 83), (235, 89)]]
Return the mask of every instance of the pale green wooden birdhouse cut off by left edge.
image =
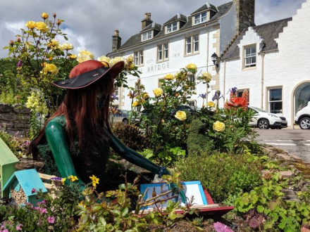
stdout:
[(1, 198), (8, 198), (8, 191), (4, 191), (4, 185), (15, 172), (15, 164), (18, 158), (12, 153), (6, 143), (0, 138), (0, 181)]

